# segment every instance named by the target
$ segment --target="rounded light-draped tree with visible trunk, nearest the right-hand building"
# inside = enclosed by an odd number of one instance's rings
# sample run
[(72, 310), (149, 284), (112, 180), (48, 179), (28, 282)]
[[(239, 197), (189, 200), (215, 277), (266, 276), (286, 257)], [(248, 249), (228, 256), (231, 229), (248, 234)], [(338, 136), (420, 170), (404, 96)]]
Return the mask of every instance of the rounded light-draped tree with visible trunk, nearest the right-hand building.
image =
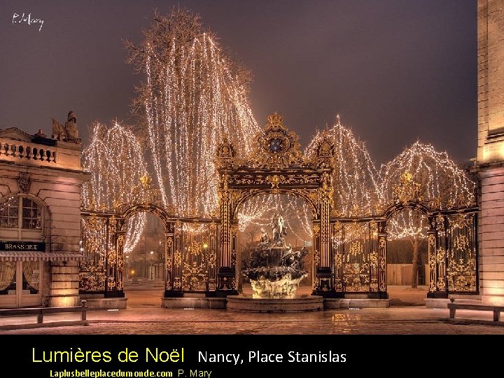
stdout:
[[(475, 184), (468, 174), (430, 144), (416, 141), (381, 167), (381, 205), (420, 203), (428, 209), (470, 206)], [(388, 220), (388, 239), (409, 239), (413, 248), (412, 288), (418, 286), (419, 248), (428, 222), (418, 209), (404, 207)]]

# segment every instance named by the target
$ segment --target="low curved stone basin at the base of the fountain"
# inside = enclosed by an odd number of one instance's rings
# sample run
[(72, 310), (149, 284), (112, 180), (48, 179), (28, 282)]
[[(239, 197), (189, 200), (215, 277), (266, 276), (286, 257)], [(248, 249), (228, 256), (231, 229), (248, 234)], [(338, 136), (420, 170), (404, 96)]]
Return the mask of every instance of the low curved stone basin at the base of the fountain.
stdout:
[(254, 298), (252, 295), (230, 295), (226, 309), (246, 312), (302, 312), (323, 310), (323, 297), (301, 295), (294, 298)]

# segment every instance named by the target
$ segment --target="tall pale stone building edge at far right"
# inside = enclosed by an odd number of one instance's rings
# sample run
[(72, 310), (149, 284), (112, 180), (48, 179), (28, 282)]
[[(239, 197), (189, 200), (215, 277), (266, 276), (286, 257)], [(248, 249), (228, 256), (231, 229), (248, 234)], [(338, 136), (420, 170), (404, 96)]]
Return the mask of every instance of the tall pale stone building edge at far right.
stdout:
[(504, 1), (477, 7), (479, 293), (504, 304)]

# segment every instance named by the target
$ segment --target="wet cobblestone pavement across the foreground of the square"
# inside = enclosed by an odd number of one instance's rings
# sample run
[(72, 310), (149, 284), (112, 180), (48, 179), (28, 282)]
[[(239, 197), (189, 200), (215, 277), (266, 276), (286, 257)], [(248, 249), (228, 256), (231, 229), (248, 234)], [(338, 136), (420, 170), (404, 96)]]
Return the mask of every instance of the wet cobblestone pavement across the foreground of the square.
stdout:
[[(62, 321), (76, 321), (80, 316), (78, 313), (44, 316), (42, 327), (33, 324), (34, 316), (0, 318), (0, 334), (504, 335), (504, 323), (490, 325), (466, 323), (463, 320), (449, 322), (448, 310), (426, 308), (421, 302), (425, 293), (421, 292), (406, 293), (402, 295), (402, 299), (393, 298), (391, 307), (382, 309), (326, 309), (262, 314), (225, 309), (165, 309), (160, 307), (160, 290), (162, 289), (130, 290), (127, 309), (87, 311), (89, 325), (62, 325)], [(487, 314), (486, 311), (457, 311), (457, 316), (459, 312), (460, 317), (491, 320), (491, 313)], [(8, 327), (14, 329), (7, 329)]]

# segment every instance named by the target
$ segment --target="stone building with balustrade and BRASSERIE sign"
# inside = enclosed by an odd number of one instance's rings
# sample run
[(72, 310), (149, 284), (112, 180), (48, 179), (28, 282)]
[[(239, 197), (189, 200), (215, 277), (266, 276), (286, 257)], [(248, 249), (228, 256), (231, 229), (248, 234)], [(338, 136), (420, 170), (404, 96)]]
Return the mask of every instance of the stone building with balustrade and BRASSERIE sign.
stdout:
[(80, 304), (80, 146), (0, 130), (0, 307)]

